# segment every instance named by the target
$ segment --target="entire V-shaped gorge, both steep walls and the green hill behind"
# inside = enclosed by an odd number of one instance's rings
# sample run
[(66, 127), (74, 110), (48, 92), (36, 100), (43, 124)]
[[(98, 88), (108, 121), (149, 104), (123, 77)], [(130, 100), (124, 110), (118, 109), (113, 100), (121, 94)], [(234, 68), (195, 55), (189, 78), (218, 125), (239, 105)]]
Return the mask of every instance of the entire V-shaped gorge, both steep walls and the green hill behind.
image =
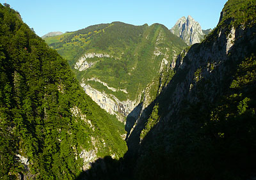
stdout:
[[(0, 5), (0, 18), (1, 177), (255, 178), (255, 0), (229, 0), (186, 49), (159, 24), (48, 38), (78, 80), (16, 11)], [(127, 116), (126, 136), (83, 90)]]

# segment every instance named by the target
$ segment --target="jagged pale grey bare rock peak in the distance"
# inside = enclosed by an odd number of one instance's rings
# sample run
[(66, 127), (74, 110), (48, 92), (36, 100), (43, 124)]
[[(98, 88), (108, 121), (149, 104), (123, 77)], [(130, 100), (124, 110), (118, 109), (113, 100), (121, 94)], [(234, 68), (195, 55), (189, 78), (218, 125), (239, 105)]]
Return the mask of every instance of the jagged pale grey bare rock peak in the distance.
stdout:
[(205, 35), (200, 24), (190, 15), (187, 19), (186, 17), (180, 18), (170, 31), (176, 36), (182, 38), (182, 40), (184, 40), (188, 45), (200, 43)]

